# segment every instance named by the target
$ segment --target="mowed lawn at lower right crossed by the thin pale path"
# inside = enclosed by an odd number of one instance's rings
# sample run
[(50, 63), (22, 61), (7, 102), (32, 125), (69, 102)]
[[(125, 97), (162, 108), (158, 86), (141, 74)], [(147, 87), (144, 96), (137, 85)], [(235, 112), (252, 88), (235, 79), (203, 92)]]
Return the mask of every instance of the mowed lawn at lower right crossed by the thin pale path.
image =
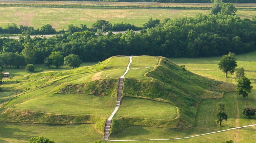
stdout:
[[(226, 105), (225, 112), (228, 115), (227, 122), (222, 123), (222, 127), (219, 127), (216, 122), (216, 104), (224, 103)], [(196, 115), (195, 127), (179, 130), (172, 128), (154, 128), (144, 126), (130, 126), (121, 132), (112, 134), (110, 139), (168, 139), (168, 138), (180, 138), (193, 135), (200, 135), (210, 133), (214, 131), (220, 131), (230, 129), (239, 126), (245, 126), (255, 124), (256, 117), (247, 119), (242, 115), (242, 109), (247, 102), (256, 105), (255, 99), (252, 97), (243, 101), (241, 96), (237, 96), (234, 92), (225, 93), (221, 99), (207, 99), (203, 100), (198, 106), (198, 112)], [(121, 106), (120, 106), (121, 107)], [(118, 111), (117, 111), (118, 112)], [(239, 119), (237, 119), (239, 118)], [(247, 127), (243, 129), (230, 130), (222, 133), (203, 135), (199, 137), (193, 137), (189, 139), (181, 140), (169, 140), (160, 142), (219, 142), (225, 140), (234, 140), (235, 142), (252, 142), (256, 135), (254, 134), (256, 127)], [(141, 141), (142, 142), (142, 141)], [(147, 142), (159, 142), (159, 141), (147, 141)]]

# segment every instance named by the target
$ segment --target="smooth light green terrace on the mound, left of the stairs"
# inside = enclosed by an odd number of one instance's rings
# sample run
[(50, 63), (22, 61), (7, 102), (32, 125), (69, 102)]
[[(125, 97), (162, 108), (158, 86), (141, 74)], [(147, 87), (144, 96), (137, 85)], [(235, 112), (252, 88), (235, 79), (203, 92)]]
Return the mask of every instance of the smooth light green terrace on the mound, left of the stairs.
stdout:
[(82, 94), (50, 94), (11, 106), (21, 111), (37, 111), (61, 115), (93, 114), (108, 118), (114, 111), (115, 97)]

